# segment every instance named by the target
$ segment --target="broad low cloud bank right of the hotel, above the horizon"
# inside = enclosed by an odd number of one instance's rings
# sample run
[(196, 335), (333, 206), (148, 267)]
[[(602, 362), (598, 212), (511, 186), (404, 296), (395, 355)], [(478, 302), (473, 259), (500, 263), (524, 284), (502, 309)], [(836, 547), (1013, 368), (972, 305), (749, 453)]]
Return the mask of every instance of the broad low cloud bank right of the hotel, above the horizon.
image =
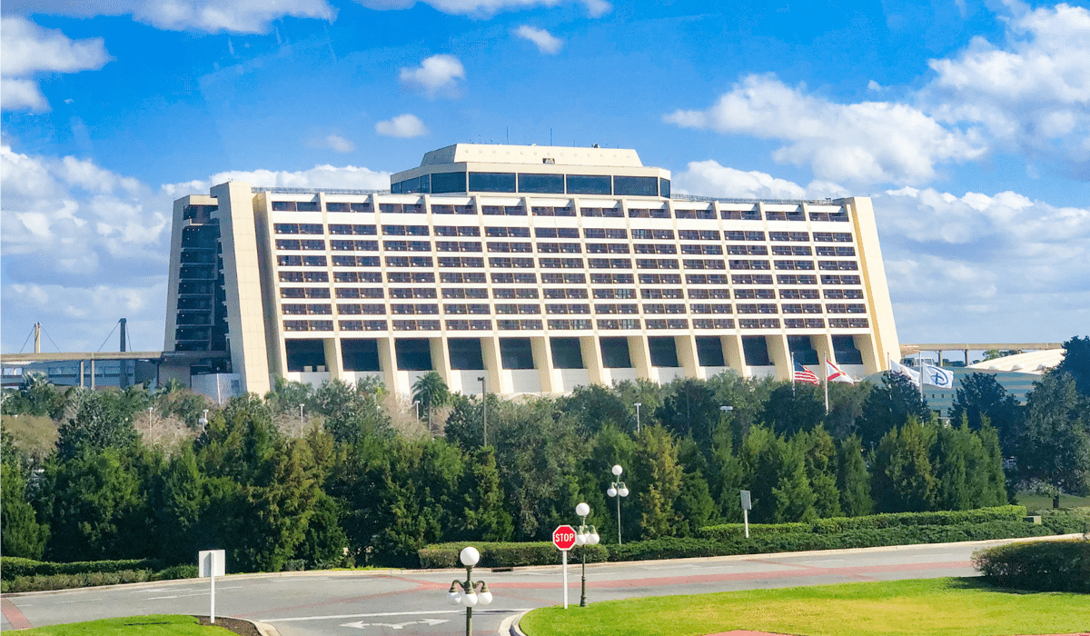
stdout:
[(1058, 341), (1090, 324), (1090, 208), (913, 188), (873, 203), (901, 341)]

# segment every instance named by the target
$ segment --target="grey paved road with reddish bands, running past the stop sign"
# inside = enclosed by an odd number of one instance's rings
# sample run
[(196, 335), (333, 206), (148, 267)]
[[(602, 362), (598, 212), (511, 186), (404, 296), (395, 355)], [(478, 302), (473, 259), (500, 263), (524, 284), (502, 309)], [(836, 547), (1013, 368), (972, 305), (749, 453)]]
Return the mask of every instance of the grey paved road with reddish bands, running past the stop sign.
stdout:
[[(1005, 541), (897, 548), (603, 563), (586, 566), (590, 602), (632, 597), (702, 593), (829, 583), (973, 576), (973, 550)], [(282, 636), (464, 634), (464, 609), (446, 604), (451, 579), (464, 571), (390, 571), (235, 575), (217, 579), (217, 615), (269, 623)], [(569, 566), (569, 602), (579, 604), (579, 566)], [(559, 604), (559, 566), (514, 572), (477, 568), (495, 595), (475, 609), (474, 634), (496, 634), (521, 610)], [(207, 579), (137, 584), (5, 596), (7, 631), (111, 616), (207, 614)]]

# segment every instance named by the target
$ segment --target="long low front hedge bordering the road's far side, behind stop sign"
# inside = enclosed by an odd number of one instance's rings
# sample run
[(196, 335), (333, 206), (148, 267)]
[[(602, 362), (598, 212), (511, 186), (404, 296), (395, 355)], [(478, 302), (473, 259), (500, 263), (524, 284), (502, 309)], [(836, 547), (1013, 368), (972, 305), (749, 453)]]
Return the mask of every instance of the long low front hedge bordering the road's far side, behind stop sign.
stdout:
[[(741, 535), (722, 540), (665, 538), (649, 541), (632, 541), (623, 545), (593, 545), (588, 551), (588, 562), (770, 554), (807, 550), (837, 550), (843, 548), (874, 548), (881, 545), (1045, 537), (1052, 533), (1043, 525), (1005, 519), (952, 526), (906, 525), (882, 529), (862, 528), (837, 533), (770, 532), (751, 536), (749, 539), (746, 539)], [(552, 543), (474, 543), (473, 545), (481, 550), (481, 565), (485, 567), (516, 567), (521, 565), (553, 565), (560, 563), (559, 551)], [(420, 565), (425, 568), (458, 567), (458, 552), (463, 547), (464, 543), (428, 545), (420, 551)], [(576, 561), (578, 560), (579, 553), (577, 551)]]

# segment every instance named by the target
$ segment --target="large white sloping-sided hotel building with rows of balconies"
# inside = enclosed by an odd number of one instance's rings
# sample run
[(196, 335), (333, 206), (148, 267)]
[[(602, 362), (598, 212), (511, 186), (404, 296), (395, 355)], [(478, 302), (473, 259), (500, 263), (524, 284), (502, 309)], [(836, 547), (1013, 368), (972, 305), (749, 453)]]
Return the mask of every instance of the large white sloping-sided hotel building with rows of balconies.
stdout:
[(456, 144), (390, 191), (228, 182), (174, 202), (165, 350), (409, 393), (853, 375), (899, 358), (868, 197), (670, 196), (635, 151)]

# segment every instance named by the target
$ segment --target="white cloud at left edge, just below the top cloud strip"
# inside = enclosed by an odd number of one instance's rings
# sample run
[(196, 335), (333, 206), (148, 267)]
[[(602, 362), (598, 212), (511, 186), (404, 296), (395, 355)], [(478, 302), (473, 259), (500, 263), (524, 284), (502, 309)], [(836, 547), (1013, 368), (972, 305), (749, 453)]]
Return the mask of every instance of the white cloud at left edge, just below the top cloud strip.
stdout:
[(72, 40), (19, 15), (0, 19), (0, 104), (4, 110), (49, 110), (37, 73), (77, 73), (110, 60), (102, 38)]

